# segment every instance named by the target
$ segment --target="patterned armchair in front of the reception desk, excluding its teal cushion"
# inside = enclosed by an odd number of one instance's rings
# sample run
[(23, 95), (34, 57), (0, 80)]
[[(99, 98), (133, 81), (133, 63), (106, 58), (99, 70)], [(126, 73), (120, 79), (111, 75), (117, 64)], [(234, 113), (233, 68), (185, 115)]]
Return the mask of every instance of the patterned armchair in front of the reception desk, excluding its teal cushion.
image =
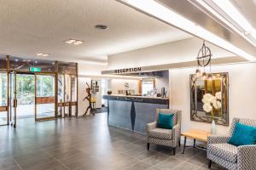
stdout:
[[(158, 115), (163, 114), (174, 114), (172, 117), (173, 127), (172, 129), (158, 128)], [(155, 111), (155, 121), (147, 124), (147, 148), (149, 150), (149, 144), (160, 144), (173, 148), (173, 155), (177, 144), (180, 142), (180, 131), (181, 131), (181, 111), (172, 109), (157, 109)]]

